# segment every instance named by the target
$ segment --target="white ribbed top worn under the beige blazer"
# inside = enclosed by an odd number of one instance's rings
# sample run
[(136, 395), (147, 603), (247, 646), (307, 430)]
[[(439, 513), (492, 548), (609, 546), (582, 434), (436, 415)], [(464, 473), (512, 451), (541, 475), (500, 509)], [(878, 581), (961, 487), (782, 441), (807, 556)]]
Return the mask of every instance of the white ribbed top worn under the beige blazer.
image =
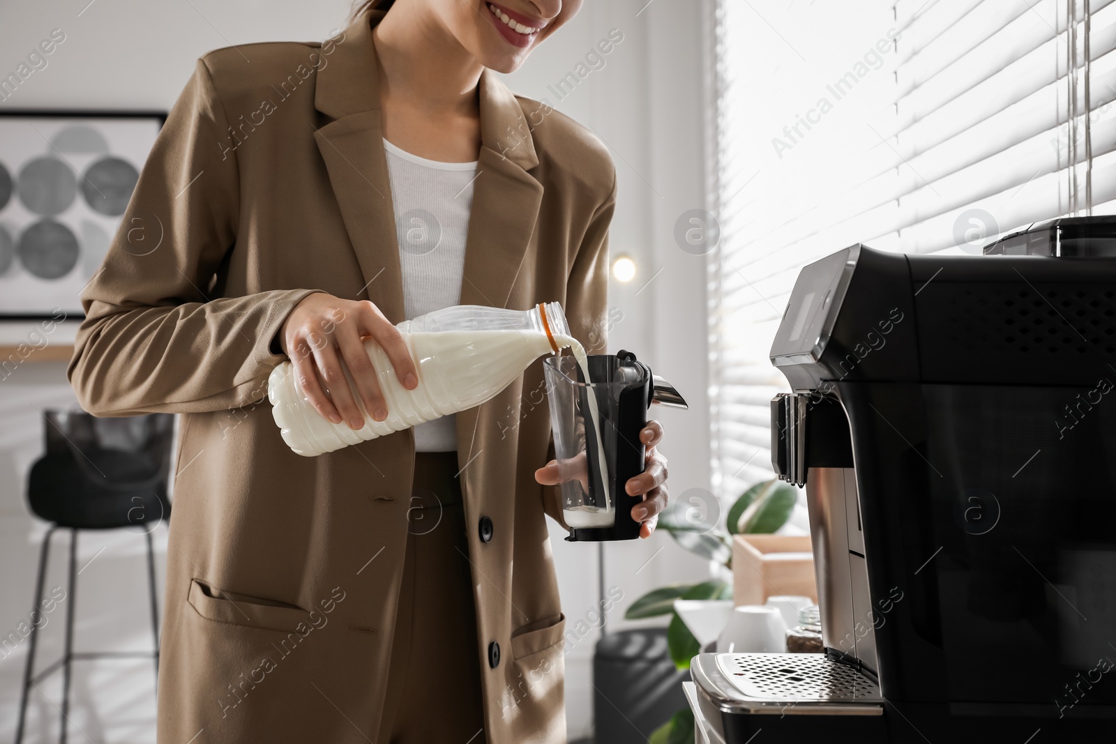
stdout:
[[(403, 311), (410, 320), (461, 301), (477, 162), (429, 161), (387, 139), (384, 151), (403, 270)], [(454, 415), (419, 424), (415, 451), (455, 451), (455, 425)]]

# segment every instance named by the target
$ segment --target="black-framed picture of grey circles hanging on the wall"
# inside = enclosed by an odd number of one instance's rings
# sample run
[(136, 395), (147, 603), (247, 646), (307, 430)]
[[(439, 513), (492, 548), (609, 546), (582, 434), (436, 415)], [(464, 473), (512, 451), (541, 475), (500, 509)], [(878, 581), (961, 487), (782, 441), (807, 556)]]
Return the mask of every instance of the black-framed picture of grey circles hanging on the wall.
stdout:
[(0, 107), (0, 320), (81, 318), (161, 112)]

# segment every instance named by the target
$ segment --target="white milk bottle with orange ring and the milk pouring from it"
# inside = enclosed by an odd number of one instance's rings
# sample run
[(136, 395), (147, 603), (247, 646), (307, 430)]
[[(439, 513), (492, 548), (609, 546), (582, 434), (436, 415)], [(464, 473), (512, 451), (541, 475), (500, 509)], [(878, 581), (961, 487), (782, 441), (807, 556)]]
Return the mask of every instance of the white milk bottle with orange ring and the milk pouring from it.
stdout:
[[(387, 418), (382, 422), (373, 419), (365, 410), (347, 368), (348, 385), (365, 418), (364, 426), (355, 431), (318, 414), (298, 387), (290, 361), (280, 363), (271, 371), (268, 378), (271, 413), (283, 441), (295, 453), (315, 456), (334, 452), (479, 406), (496, 397), (537, 358), (565, 348), (577, 360), (584, 379), (589, 380), (585, 349), (569, 334), (566, 317), (557, 302), (540, 303), (530, 310), (458, 306), (403, 321), (396, 327), (415, 360), (419, 385), (413, 390), (403, 387), (379, 345), (365, 340), (365, 350), (376, 369), (387, 404)], [(599, 485), (608, 506), (568, 510), (566, 520), (574, 528), (607, 525), (614, 521), (613, 499), (607, 489), (608, 464), (599, 435), (600, 415), (596, 396), (591, 389), (587, 393), (589, 416), (597, 432)]]

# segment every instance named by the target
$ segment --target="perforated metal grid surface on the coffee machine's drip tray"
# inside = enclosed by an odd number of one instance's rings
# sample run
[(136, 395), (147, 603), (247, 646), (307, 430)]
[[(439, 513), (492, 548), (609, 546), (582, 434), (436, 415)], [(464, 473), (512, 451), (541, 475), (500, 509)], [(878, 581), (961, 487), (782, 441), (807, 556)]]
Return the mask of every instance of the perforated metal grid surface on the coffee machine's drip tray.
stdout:
[(735, 692), (764, 703), (882, 703), (879, 686), (825, 654), (718, 654)]

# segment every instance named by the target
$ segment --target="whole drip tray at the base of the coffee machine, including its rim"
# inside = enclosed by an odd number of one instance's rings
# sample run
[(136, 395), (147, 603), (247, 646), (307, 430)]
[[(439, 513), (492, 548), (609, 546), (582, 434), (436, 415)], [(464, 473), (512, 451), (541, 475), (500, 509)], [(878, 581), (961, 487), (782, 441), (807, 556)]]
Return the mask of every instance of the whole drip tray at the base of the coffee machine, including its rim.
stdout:
[(825, 654), (700, 654), (690, 671), (721, 714), (883, 715), (879, 685)]

